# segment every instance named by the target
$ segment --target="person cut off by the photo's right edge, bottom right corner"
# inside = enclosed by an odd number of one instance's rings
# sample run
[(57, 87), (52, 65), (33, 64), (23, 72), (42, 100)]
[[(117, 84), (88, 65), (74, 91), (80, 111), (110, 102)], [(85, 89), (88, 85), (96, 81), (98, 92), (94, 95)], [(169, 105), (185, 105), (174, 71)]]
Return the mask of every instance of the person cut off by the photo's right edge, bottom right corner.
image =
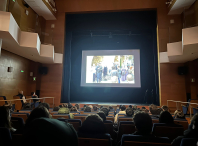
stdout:
[(195, 114), (191, 120), (192, 128), (184, 131), (183, 136), (177, 137), (173, 142), (172, 146), (180, 146), (183, 138), (198, 138), (198, 113)]

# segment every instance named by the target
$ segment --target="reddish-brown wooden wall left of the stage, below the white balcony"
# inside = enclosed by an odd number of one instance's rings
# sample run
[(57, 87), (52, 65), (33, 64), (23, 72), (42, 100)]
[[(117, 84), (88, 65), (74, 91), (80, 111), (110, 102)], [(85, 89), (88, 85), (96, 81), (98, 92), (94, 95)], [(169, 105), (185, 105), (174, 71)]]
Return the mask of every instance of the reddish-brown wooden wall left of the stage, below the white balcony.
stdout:
[[(55, 97), (55, 105), (58, 106), (61, 99), (63, 65), (43, 64), (43, 66), (48, 67), (48, 74), (41, 76), (40, 96)], [(46, 101), (52, 105), (51, 99), (47, 99)]]

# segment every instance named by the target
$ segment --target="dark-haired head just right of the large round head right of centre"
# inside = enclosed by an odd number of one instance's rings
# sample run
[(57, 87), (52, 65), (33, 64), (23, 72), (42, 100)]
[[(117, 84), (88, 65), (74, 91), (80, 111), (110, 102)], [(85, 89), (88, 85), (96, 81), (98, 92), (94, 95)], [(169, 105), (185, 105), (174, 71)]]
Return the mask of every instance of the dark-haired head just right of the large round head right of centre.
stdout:
[(159, 117), (159, 123), (174, 124), (174, 119), (168, 111), (162, 111)]

